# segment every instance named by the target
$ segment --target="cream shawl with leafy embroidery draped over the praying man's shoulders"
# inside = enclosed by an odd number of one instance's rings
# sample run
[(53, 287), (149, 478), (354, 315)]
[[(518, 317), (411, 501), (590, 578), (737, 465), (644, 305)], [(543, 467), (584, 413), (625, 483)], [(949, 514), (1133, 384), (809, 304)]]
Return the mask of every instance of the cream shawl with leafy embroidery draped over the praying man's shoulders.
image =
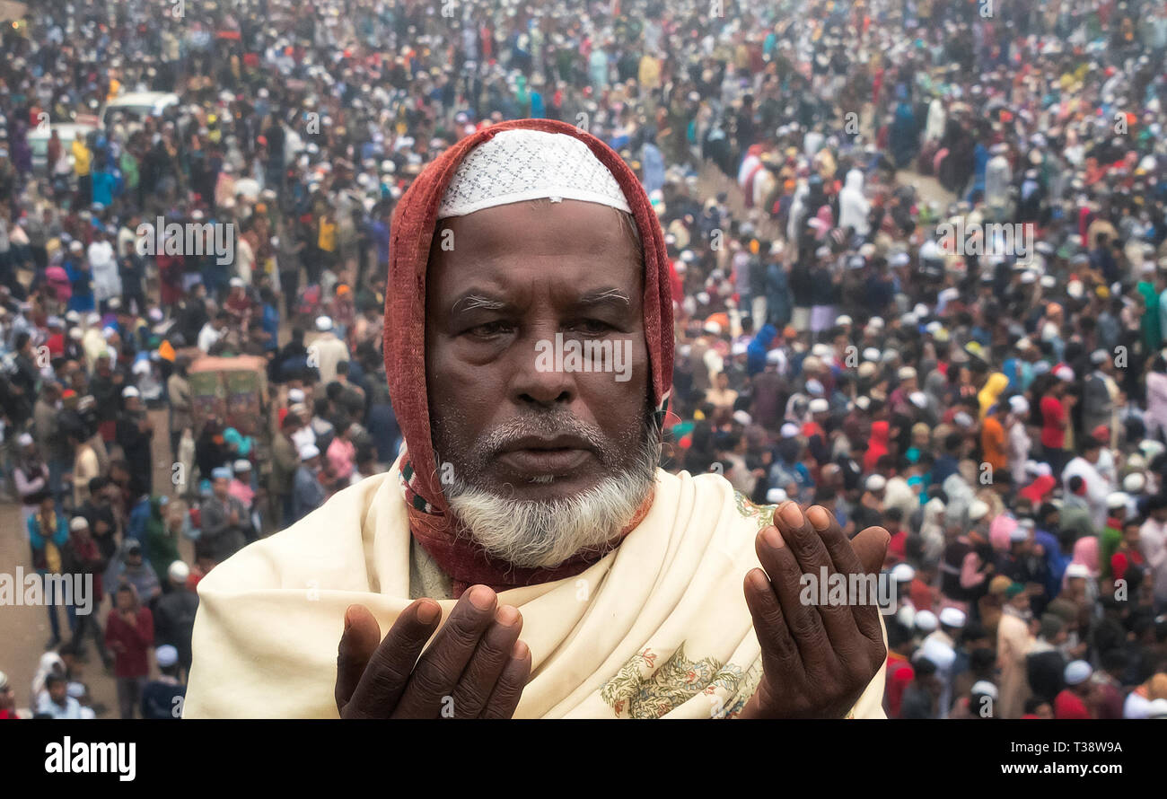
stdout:
[[(522, 611), (532, 656), (516, 717), (720, 717), (756, 688), (742, 581), (774, 507), (717, 475), (657, 475), (652, 507), (617, 549), (499, 594)], [(337, 717), (344, 609), (364, 604), (387, 632), (411, 602), (410, 544), (394, 467), (217, 566), (198, 586), (183, 716)], [(455, 603), (439, 604), (445, 618)], [(885, 668), (852, 716), (883, 717)]]

